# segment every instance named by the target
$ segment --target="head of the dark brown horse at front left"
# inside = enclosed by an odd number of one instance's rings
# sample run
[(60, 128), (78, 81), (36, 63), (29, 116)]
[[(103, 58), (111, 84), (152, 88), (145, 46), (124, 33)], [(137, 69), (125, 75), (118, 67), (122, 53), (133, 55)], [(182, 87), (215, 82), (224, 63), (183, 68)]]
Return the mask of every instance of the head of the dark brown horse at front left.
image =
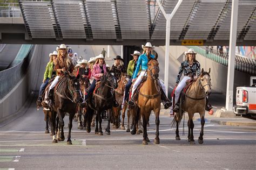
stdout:
[(80, 99), (79, 75), (78, 77), (68, 75), (68, 77), (69, 77), (69, 80), (68, 80), (69, 93), (72, 96), (73, 102), (78, 103)]

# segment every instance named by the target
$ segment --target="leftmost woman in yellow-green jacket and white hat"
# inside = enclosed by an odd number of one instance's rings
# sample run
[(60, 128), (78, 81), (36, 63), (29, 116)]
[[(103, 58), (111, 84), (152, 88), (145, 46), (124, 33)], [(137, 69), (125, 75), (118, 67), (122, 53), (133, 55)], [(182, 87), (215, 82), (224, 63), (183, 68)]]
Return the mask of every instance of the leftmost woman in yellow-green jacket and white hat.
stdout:
[(49, 80), (52, 78), (52, 73), (53, 73), (53, 68), (54, 68), (53, 61), (56, 60), (57, 54), (58, 54), (57, 51), (54, 51), (53, 53), (49, 54), (50, 61), (47, 63), (47, 65), (45, 67), (44, 79), (43, 79), (43, 83), (41, 84), (41, 87), (39, 89), (39, 96), (38, 96), (37, 103), (42, 103), (42, 94), (43, 94), (44, 89), (46, 88)]

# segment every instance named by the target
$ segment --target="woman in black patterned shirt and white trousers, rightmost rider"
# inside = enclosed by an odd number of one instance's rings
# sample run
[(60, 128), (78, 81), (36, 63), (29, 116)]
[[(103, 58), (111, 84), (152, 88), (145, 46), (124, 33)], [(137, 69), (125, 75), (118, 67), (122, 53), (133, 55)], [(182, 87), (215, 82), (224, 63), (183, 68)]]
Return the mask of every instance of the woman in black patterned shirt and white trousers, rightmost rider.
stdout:
[[(194, 52), (193, 48), (188, 49), (187, 52), (185, 52), (186, 59), (185, 61), (181, 62), (179, 73), (176, 79), (176, 90), (174, 92), (175, 94), (175, 107), (173, 108), (174, 112), (179, 111), (179, 95), (181, 93), (181, 90), (186, 86), (186, 81), (190, 79), (195, 79), (196, 77), (200, 76), (201, 70), (200, 70), (200, 63), (196, 60), (196, 52)], [(181, 75), (184, 74), (183, 79), (180, 81)], [(212, 109), (210, 103), (208, 103), (208, 100), (206, 98), (206, 105), (207, 111), (210, 111)]]

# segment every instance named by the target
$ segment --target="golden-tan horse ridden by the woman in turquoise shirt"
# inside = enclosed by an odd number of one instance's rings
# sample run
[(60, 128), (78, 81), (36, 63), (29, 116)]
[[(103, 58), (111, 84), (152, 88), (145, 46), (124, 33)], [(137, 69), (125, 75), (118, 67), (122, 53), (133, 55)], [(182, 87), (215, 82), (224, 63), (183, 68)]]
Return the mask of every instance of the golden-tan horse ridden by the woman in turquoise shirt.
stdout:
[[(155, 144), (159, 144), (159, 113), (161, 108), (161, 85), (158, 80), (159, 76), (159, 63), (156, 58), (149, 60), (147, 63), (147, 79), (143, 82), (140, 89), (138, 89), (138, 111), (133, 119), (138, 124), (139, 115), (143, 119), (143, 144), (147, 145), (149, 138), (147, 137), (147, 123), (151, 114), (151, 110), (156, 115), (156, 138), (154, 139)], [(136, 131), (136, 126), (133, 126), (132, 134)]]

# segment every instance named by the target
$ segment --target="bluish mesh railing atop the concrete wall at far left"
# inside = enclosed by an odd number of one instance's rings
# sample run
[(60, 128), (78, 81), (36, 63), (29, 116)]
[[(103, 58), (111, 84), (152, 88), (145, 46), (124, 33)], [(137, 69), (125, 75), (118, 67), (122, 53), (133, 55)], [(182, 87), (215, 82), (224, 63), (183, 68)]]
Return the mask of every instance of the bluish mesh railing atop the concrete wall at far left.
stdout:
[(33, 49), (34, 47), (30, 49), (30, 52), (26, 54), (26, 57), (18, 65), (0, 72), (0, 100), (16, 86), (19, 80), (26, 74)]

